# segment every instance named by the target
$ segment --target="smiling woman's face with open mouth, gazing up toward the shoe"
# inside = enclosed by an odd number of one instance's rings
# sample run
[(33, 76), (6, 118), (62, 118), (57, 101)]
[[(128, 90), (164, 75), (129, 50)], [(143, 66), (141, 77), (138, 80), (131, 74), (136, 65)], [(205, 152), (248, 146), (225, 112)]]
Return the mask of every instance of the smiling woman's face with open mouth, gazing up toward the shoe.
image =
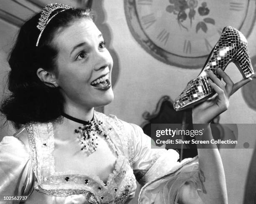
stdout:
[(54, 36), (59, 50), (56, 82), (66, 105), (98, 107), (113, 100), (113, 59), (105, 48), (102, 33), (90, 18), (76, 20)]

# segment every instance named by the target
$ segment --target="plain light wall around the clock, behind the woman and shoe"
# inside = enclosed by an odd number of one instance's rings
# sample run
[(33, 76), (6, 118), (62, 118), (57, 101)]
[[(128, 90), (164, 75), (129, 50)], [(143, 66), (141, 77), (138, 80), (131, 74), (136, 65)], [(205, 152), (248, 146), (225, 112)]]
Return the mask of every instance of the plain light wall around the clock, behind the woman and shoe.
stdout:
[[(159, 62), (151, 57), (131, 35), (125, 19), (123, 0), (115, 4), (104, 1), (107, 24), (111, 28), (111, 48), (119, 57), (119, 77), (114, 87), (115, 99), (105, 107), (105, 113), (115, 114), (120, 119), (140, 125), (145, 111), (152, 112), (163, 95), (173, 100), (200, 72)], [(256, 29), (248, 37), (251, 53), (256, 53)], [(227, 67), (234, 82), (241, 80), (235, 65)], [(220, 123), (256, 123), (256, 111), (243, 100), (241, 90), (230, 98), (229, 109), (221, 114)], [(255, 142), (253, 138), (241, 138), (244, 142)], [(253, 144), (254, 144), (253, 142)], [(253, 149), (222, 149), (221, 156), (226, 172), (229, 203), (242, 203), (246, 177)]]

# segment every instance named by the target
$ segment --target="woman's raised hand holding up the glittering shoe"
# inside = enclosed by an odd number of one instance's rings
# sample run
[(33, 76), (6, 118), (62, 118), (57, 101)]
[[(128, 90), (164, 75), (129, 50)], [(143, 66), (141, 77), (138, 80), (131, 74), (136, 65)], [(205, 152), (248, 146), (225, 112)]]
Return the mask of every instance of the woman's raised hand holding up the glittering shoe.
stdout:
[(248, 79), (243, 79), (234, 84), (223, 70), (219, 68), (217, 72), (223, 78), (226, 85), (224, 85), (212, 71), (208, 71), (208, 75), (210, 77), (208, 82), (212, 89), (217, 93), (217, 96), (193, 107), (193, 123), (209, 123), (212, 121), (212, 119), (228, 109), (229, 97), (243, 85), (252, 80), (252, 78), (249, 77)]

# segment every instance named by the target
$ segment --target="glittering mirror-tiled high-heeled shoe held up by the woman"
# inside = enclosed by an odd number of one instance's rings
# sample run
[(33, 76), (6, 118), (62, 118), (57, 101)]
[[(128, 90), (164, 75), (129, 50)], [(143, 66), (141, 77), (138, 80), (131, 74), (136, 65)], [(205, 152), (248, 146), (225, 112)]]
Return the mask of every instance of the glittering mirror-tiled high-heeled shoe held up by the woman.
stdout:
[(174, 109), (178, 111), (193, 107), (214, 95), (215, 91), (207, 82), (209, 76), (206, 70), (212, 70), (220, 79), (217, 69), (221, 68), (224, 71), (230, 62), (235, 63), (244, 78), (254, 74), (246, 38), (239, 30), (228, 26), (223, 29), (198, 77), (188, 82), (187, 87), (176, 98)]

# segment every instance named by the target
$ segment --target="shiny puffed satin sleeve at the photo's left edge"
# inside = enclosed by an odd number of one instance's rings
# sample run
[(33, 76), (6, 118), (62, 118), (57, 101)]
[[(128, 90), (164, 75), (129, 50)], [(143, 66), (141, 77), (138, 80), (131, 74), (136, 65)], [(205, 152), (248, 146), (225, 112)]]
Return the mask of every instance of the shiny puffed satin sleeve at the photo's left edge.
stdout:
[(33, 183), (33, 168), (26, 146), (16, 137), (3, 137), (0, 142), (1, 201), (4, 196), (29, 196)]

